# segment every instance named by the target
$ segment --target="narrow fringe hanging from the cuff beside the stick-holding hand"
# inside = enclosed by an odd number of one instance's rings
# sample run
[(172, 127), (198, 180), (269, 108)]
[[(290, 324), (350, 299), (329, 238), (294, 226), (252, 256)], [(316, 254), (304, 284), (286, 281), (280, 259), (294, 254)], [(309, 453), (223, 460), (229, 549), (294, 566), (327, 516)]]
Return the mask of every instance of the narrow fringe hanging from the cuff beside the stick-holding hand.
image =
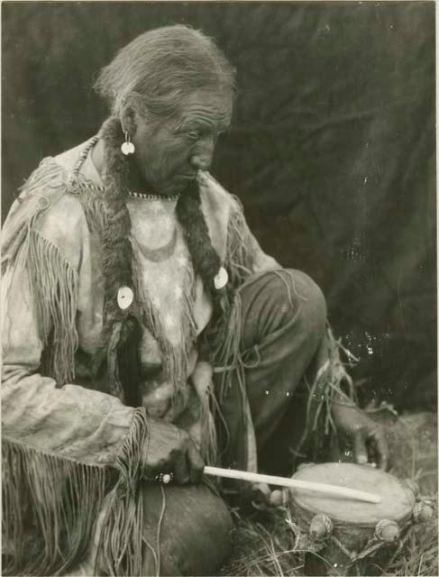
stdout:
[(130, 438), (115, 468), (119, 480), (112, 491), (96, 555), (97, 575), (142, 575), (142, 451), (148, 438), (144, 408), (134, 411)]

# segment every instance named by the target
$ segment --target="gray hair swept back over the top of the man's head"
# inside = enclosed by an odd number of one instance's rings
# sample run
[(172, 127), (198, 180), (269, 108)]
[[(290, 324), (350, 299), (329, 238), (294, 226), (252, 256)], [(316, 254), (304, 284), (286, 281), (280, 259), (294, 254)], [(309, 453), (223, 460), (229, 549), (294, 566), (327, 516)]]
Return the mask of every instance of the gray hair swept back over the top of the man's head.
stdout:
[(143, 32), (101, 70), (95, 90), (121, 118), (126, 105), (171, 114), (182, 96), (202, 88), (235, 90), (235, 70), (215, 42), (184, 25)]

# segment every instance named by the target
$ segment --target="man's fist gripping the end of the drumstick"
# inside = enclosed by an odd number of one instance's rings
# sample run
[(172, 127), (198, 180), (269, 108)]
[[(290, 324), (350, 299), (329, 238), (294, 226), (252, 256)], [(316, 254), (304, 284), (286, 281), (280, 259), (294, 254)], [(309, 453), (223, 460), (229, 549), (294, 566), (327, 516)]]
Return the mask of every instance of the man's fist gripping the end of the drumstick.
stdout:
[(201, 480), (205, 463), (187, 432), (163, 421), (148, 419), (149, 438), (143, 449), (143, 476), (173, 473), (179, 484)]

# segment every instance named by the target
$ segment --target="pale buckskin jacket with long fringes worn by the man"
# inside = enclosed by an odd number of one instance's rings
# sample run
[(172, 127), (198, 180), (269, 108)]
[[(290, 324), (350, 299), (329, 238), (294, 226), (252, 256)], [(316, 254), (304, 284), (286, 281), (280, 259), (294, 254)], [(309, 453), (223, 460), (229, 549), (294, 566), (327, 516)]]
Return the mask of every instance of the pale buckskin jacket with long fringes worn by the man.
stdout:
[[(103, 183), (92, 143), (42, 160), (4, 227), (3, 545), (9, 574), (68, 569), (87, 548), (108, 487), (114, 502), (106, 537), (115, 543), (123, 531), (125, 542), (126, 534), (135, 538), (140, 527), (124, 515), (140, 475), (148, 415), (187, 428), (207, 461), (215, 454), (212, 369), (197, 352), (212, 303), (194, 276), (176, 199), (127, 201), (133, 268), (155, 333), (145, 329), (140, 356), (146, 365), (162, 362), (168, 378), (145, 383), (143, 407), (131, 408), (103, 392), (102, 374), (94, 371), (104, 314), (99, 226), (105, 215), (97, 202)], [(207, 173), (199, 184), (213, 246), (234, 285), (279, 268), (261, 251), (236, 198)], [(246, 422), (249, 440), (251, 419)], [(247, 448), (242, 468), (250, 466), (250, 453)]]

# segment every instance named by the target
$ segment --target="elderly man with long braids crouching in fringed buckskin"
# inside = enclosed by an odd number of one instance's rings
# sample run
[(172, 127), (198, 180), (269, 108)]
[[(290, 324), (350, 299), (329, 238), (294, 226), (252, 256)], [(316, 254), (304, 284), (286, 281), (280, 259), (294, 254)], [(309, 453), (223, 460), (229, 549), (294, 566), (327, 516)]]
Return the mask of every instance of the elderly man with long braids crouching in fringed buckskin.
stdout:
[(204, 463), (270, 472), (323, 426), (359, 462), (386, 447), (321, 291), (207, 172), (233, 108), (223, 53), (152, 30), (96, 88), (110, 117), (42, 160), (4, 229), (4, 572), (215, 572), (231, 520)]

